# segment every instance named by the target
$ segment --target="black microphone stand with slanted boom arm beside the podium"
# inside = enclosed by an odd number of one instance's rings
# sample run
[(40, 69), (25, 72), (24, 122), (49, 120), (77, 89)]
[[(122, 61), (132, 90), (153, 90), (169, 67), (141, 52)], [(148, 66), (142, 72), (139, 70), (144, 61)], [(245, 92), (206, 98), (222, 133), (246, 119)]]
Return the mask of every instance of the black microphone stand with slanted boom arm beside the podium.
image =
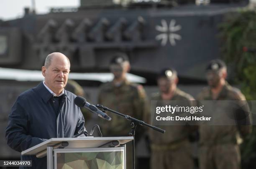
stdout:
[(141, 120), (138, 120), (138, 119), (136, 119), (136, 118), (133, 118), (133, 117), (131, 117), (131, 116), (128, 116), (128, 115), (125, 115), (125, 114), (116, 112), (116, 111), (114, 111), (114, 110), (112, 110), (112, 109), (109, 109), (108, 107), (104, 107), (104, 106), (102, 106), (102, 105), (100, 105), (100, 104), (97, 104), (96, 107), (98, 107), (99, 109), (101, 109), (101, 110), (104, 111), (104, 112), (105, 112), (105, 111), (108, 111), (108, 112), (117, 114), (118, 116), (124, 117), (126, 120), (130, 120), (130, 121), (131, 121), (131, 125), (130, 125), (131, 130), (130, 130), (130, 132), (129, 132), (129, 136), (133, 136), (133, 140), (132, 140), (132, 149), (133, 149), (133, 150), (132, 150), (132, 151), (133, 151), (133, 169), (135, 169), (135, 137), (134, 137), (134, 136), (135, 136), (135, 130), (136, 130), (137, 125), (139, 124), (139, 125), (141, 125), (141, 126), (149, 127), (149, 128), (151, 128), (151, 129), (154, 129), (154, 130), (156, 130), (156, 131), (158, 131), (158, 132), (161, 132), (161, 133), (164, 133), (164, 132), (165, 132), (165, 130), (163, 130), (163, 129), (160, 129), (160, 128), (158, 128), (158, 127), (152, 126), (152, 125), (150, 125), (150, 124), (147, 124), (147, 123), (145, 123), (145, 122), (143, 122), (143, 121), (141, 121)]

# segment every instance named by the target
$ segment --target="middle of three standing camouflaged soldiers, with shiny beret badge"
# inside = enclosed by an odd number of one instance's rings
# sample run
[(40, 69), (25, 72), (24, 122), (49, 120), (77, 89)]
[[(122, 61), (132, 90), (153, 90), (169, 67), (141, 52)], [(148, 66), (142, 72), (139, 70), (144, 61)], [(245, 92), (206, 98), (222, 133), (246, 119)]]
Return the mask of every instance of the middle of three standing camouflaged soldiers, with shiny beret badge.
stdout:
[[(174, 69), (162, 70), (157, 83), (160, 93), (152, 94), (151, 100), (180, 100), (188, 101), (188, 104), (191, 104), (190, 100), (194, 100), (191, 95), (177, 88), (178, 77)], [(189, 132), (193, 130), (192, 127), (187, 125), (158, 127), (166, 132), (162, 134), (149, 130), (151, 169), (193, 169), (194, 163), (188, 139)]]

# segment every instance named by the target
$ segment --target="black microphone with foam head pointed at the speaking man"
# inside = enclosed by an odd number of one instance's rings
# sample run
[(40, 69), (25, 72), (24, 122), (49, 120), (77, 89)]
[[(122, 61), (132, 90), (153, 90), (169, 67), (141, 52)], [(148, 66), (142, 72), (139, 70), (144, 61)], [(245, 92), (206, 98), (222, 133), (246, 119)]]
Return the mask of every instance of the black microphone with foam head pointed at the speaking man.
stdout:
[(111, 120), (111, 117), (109, 117), (108, 114), (103, 113), (95, 105), (90, 104), (89, 102), (86, 102), (86, 99), (84, 99), (83, 97), (77, 96), (74, 99), (74, 104), (76, 104), (78, 107), (84, 107), (84, 108), (90, 110), (91, 112), (96, 113), (102, 119), (106, 119), (108, 121)]

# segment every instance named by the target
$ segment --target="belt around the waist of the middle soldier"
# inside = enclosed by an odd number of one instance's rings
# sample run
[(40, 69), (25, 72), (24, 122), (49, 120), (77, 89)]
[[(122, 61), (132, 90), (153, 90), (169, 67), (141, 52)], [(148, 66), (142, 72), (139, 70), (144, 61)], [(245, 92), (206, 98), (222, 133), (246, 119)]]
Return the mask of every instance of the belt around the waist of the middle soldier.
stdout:
[(184, 144), (188, 143), (187, 139), (180, 140), (179, 142), (172, 142), (170, 144), (151, 144), (151, 149), (155, 151), (162, 151), (162, 150), (174, 150), (179, 149), (180, 147), (184, 146)]

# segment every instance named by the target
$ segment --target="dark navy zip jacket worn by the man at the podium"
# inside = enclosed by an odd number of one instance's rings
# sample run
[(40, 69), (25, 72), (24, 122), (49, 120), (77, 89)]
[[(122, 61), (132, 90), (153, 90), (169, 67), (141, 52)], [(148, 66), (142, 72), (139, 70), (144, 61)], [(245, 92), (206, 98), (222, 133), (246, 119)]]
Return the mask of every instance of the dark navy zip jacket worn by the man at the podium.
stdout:
[[(64, 90), (57, 115), (52, 106), (53, 95), (43, 82), (20, 94), (9, 114), (5, 133), (8, 145), (22, 152), (47, 139), (77, 135), (84, 127), (84, 117), (80, 108), (74, 104), (75, 97), (75, 94)], [(84, 135), (87, 136), (86, 130)], [(21, 159), (32, 160), (29, 169), (46, 169), (46, 157), (38, 159), (36, 156), (21, 156)]]

